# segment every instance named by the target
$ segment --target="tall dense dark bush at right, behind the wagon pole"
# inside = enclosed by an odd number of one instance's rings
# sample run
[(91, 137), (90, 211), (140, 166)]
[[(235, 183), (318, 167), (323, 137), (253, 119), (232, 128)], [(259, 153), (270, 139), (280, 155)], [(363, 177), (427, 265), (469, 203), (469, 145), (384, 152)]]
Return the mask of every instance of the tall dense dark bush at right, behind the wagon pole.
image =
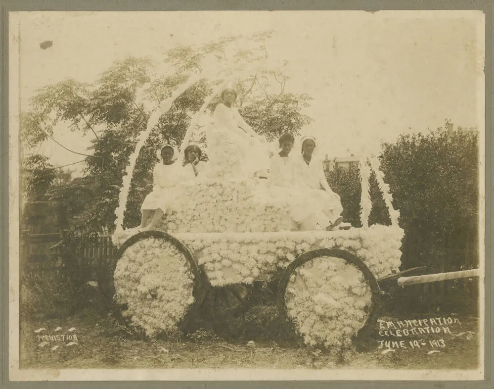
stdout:
[(405, 231), (403, 268), (477, 267), (476, 255), (449, 253), (477, 245), (478, 135), (443, 128), (402, 135), (396, 144), (383, 144), (382, 170)]

